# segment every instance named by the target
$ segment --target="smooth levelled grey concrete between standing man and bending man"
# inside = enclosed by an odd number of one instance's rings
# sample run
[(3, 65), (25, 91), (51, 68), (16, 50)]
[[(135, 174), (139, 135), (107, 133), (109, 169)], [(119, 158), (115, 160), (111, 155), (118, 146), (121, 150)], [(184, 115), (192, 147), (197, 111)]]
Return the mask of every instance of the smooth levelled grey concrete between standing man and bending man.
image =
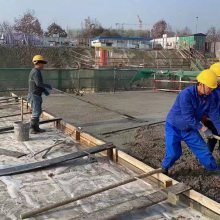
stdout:
[[(55, 93), (45, 97), (43, 105), (45, 110), (54, 115), (129, 151), (126, 146), (134, 140), (136, 129), (123, 129), (165, 120), (175, 97), (174, 93), (153, 91), (93, 93), (80, 97)], [(125, 114), (139, 121), (132, 120)]]

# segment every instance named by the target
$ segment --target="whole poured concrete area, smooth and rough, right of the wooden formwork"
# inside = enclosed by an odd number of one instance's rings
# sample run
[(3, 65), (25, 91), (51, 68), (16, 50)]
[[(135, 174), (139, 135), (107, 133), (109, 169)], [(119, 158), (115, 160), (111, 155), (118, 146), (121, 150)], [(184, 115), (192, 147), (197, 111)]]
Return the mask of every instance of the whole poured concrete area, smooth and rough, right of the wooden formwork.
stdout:
[[(45, 98), (44, 106), (53, 114), (78, 125), (83, 131), (113, 142), (119, 149), (158, 168), (165, 154), (164, 123), (160, 122), (165, 120), (176, 95), (154, 91), (84, 96), (55, 93)], [(183, 152), (181, 159), (170, 170), (171, 177), (220, 202), (219, 180), (205, 173), (184, 144)], [(214, 156), (220, 160), (217, 150)]]

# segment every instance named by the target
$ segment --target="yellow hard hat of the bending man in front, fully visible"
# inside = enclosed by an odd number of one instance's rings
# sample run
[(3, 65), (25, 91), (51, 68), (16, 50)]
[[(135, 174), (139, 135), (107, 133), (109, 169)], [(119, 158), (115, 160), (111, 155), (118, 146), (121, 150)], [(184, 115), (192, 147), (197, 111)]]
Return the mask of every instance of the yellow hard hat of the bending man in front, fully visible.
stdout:
[(217, 88), (217, 77), (210, 69), (203, 70), (196, 78), (198, 82), (208, 86), (211, 89)]

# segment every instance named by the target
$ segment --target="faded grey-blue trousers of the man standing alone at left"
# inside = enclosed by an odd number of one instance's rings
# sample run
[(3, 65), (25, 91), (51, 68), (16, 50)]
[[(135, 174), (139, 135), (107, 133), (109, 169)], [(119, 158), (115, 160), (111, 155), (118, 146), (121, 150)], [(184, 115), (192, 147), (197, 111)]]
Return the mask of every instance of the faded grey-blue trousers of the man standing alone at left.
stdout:
[(31, 118), (39, 119), (42, 113), (42, 97), (29, 93), (28, 102), (31, 104), (32, 108)]

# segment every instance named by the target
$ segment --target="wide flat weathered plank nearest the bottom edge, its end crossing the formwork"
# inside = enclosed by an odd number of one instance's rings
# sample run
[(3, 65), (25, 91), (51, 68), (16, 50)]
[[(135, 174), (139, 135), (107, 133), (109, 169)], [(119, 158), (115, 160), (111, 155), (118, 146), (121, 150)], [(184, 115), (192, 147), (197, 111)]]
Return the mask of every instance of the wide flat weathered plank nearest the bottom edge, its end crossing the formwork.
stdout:
[(165, 201), (168, 198), (169, 192), (178, 195), (182, 192), (188, 191), (189, 189), (190, 187), (186, 186), (183, 183), (179, 183), (166, 189), (159, 190), (148, 195), (143, 195), (138, 198), (133, 198), (126, 202), (115, 204), (113, 206), (98, 210), (90, 214), (87, 213), (81, 215), (74, 219), (99, 219), (100, 216), (102, 216), (102, 219), (120, 219), (120, 217), (122, 217), (124, 214), (127, 214), (131, 211), (143, 208), (145, 209), (147, 207), (151, 207), (152, 205)]

